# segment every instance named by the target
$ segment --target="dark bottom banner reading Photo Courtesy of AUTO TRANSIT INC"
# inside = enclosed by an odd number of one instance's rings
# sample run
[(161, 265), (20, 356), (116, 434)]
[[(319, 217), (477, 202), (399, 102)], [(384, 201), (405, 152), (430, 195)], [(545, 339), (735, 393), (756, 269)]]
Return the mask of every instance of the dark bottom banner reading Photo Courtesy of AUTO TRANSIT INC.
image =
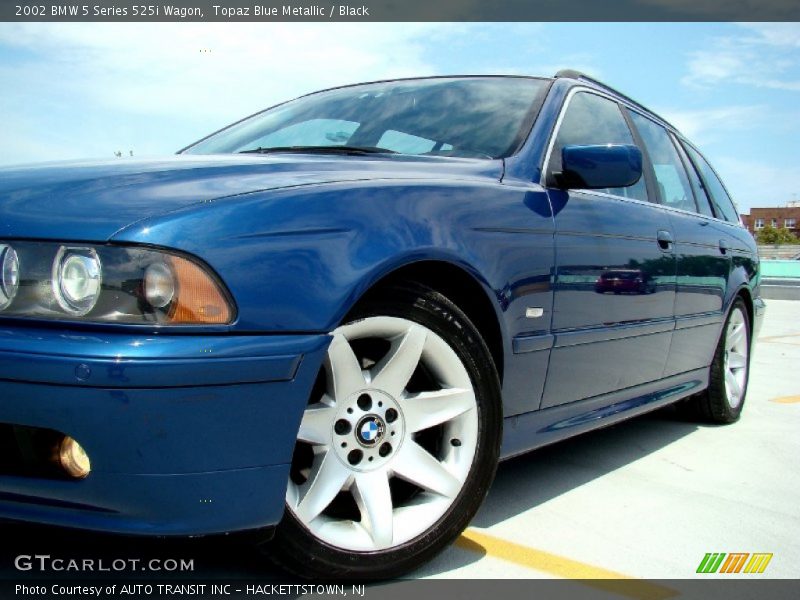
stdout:
[(751, 599), (788, 600), (800, 597), (800, 581), (741, 579), (638, 580), (425, 580), (382, 584), (259, 580), (148, 580), (96, 579), (19, 580), (0, 582), (2, 598), (308, 598), (309, 600), (623, 600)]

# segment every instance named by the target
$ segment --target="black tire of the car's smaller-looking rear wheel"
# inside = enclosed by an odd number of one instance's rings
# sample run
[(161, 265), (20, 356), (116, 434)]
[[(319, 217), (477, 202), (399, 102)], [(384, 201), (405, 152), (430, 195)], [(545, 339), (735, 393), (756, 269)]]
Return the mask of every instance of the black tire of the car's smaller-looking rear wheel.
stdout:
[(711, 373), (709, 376), (708, 388), (699, 394), (695, 394), (694, 396), (687, 398), (679, 405), (681, 413), (684, 417), (703, 423), (715, 423), (719, 425), (727, 425), (730, 423), (735, 423), (739, 420), (747, 396), (747, 383), (750, 379), (749, 352), (747, 355), (745, 379), (741, 393), (741, 399), (736, 406), (731, 406), (730, 402), (728, 401), (728, 394), (725, 386), (725, 352), (728, 325), (737, 312), (744, 318), (747, 336), (747, 348), (749, 349), (751, 347), (750, 317), (744, 300), (739, 297), (731, 306), (728, 316), (725, 319), (725, 324), (722, 327), (722, 333), (720, 334), (719, 342), (717, 343), (717, 349), (714, 352), (714, 360), (711, 363)]

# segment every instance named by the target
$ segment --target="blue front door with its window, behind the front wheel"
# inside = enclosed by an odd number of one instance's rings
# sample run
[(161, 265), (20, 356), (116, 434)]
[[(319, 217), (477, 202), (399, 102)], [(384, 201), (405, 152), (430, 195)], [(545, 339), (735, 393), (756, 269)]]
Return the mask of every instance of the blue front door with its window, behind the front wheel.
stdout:
[[(573, 92), (556, 125), (546, 173), (565, 145), (633, 144), (619, 104)], [(651, 183), (652, 186), (652, 183)], [(555, 214), (555, 343), (542, 408), (659, 379), (669, 352), (675, 257), (666, 212), (645, 179), (629, 188), (548, 186)]]

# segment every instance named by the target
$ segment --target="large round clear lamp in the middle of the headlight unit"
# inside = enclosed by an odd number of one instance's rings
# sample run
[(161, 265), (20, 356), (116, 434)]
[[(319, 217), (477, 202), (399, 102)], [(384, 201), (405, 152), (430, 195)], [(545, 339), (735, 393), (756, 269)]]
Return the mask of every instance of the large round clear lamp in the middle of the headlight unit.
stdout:
[(97, 303), (102, 267), (94, 248), (61, 246), (53, 264), (53, 292), (67, 313), (83, 316)]

